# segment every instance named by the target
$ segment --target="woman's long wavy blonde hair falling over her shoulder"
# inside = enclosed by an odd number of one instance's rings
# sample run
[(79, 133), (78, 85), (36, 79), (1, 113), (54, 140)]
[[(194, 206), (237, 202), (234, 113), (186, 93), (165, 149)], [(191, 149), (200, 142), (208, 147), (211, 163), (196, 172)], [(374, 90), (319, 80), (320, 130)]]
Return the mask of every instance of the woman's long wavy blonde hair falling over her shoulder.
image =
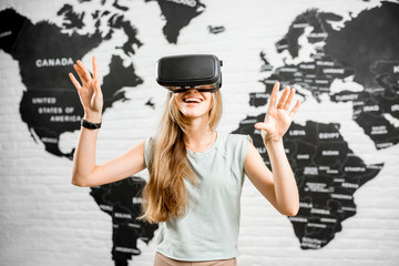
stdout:
[[(157, 134), (153, 139), (150, 181), (143, 190), (143, 214), (140, 218), (150, 223), (165, 222), (170, 215), (184, 216), (188, 204), (184, 180), (197, 184), (187, 165), (183, 140), (188, 121), (178, 110), (174, 95), (168, 93)], [(221, 92), (212, 93), (208, 125), (215, 130), (222, 116)]]

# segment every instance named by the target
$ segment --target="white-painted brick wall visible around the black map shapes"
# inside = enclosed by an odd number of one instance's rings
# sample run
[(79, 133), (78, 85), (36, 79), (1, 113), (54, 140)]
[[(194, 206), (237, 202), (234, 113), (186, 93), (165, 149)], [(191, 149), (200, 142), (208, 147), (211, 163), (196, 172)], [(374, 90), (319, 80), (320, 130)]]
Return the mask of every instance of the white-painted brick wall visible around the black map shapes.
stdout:
[[(13, 7), (33, 22), (60, 23), (55, 13), (63, 2), (75, 3), (72, 0), (9, 0), (0, 2), (0, 10)], [(174, 45), (168, 44), (161, 33), (164, 21), (158, 17), (161, 11), (156, 2), (121, 1), (133, 6), (130, 18), (144, 43), (133, 57), (136, 73), (144, 79), (144, 84), (127, 93), (131, 101), (115, 103), (104, 113), (98, 142), (99, 162), (121, 154), (154, 132), (165, 98), (164, 90), (154, 81), (154, 65), (160, 57), (204, 52), (215, 53), (224, 60), (224, 116), (219, 130), (231, 132), (247, 114), (263, 112), (262, 108), (248, 106), (248, 93), (264, 90), (257, 82), (264, 76), (258, 72), (262, 64), (258, 54), (264, 50), (270, 63), (282, 64), (274, 43), (285, 34), (297, 14), (315, 7), (347, 17), (348, 11), (356, 16), (359, 10), (377, 4), (376, 1), (360, 0), (203, 2), (208, 9), (181, 31), (178, 45)], [(89, 8), (91, 4), (94, 3), (86, 3)], [(244, 11), (250, 12), (250, 17), (244, 16)], [(208, 34), (208, 24), (224, 25), (226, 31)], [(89, 63), (90, 57), (96, 55), (102, 75), (108, 72), (106, 64), (115, 43), (121, 43), (121, 39), (114, 39), (83, 58)], [(47, 153), (41, 143), (33, 141), (19, 113), (24, 90), (17, 61), (0, 51), (0, 265), (113, 265), (111, 217), (99, 209), (89, 188), (70, 184), (71, 161)], [(150, 98), (157, 110), (144, 106)], [(377, 152), (350, 115), (349, 104), (307, 101), (296, 122), (339, 122), (350, 149), (366, 163), (386, 163), (377, 177), (356, 192), (356, 216), (342, 223), (342, 231), (326, 247), (301, 250), (289, 221), (246, 181), (242, 200), (239, 265), (399, 263), (399, 145)], [(62, 135), (61, 149), (69, 151), (76, 137), (78, 132)], [(154, 242), (149, 246), (141, 242), (139, 245), (143, 254), (133, 257), (130, 265), (152, 265)]]

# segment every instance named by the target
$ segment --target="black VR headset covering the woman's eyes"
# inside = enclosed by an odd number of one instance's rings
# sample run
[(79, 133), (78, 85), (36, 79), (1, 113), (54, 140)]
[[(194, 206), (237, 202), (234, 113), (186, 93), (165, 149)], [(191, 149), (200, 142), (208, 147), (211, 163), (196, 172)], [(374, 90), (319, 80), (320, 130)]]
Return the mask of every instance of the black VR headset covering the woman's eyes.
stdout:
[(156, 82), (171, 92), (196, 89), (215, 92), (222, 88), (223, 62), (212, 54), (186, 54), (161, 58)]

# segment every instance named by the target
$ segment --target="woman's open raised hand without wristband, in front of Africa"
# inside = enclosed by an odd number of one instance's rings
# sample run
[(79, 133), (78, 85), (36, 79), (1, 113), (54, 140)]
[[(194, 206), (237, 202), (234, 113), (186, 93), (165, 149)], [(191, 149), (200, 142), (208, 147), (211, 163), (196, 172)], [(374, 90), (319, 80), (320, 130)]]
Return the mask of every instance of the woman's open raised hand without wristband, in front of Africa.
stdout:
[(276, 82), (273, 88), (265, 121), (255, 124), (255, 129), (260, 130), (265, 144), (270, 141), (280, 142), (283, 140), (283, 135), (287, 132), (294, 115), (300, 106), (300, 101), (298, 100), (293, 110), (288, 111), (295, 95), (295, 89), (289, 86), (285, 88), (276, 106), (279, 86), (279, 82)]

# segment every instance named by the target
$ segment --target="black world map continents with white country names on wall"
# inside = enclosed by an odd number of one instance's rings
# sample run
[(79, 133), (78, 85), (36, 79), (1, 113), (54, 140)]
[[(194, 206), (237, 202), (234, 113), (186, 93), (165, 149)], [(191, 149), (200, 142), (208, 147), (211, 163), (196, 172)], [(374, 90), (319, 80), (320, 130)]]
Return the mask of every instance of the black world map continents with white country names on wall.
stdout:
[[(154, 2), (143, 0), (145, 3)], [(145, 45), (140, 40), (140, 28), (125, 12), (129, 6), (115, 0), (110, 11), (78, 12), (75, 8), (86, 1), (71, 1), (57, 13), (63, 20), (63, 28), (49, 21), (33, 23), (13, 9), (0, 11), (0, 49), (19, 64), (21, 81), (25, 88), (20, 115), (27, 130), (45, 152), (72, 160), (74, 149), (62, 152), (60, 135), (80, 129), (83, 115), (78, 93), (65, 79), (73, 62), (90, 53), (102, 42), (114, 38), (115, 30), (122, 30), (125, 42), (114, 50), (132, 58), (130, 65), (123, 64), (117, 54), (108, 62), (109, 73), (101, 84), (104, 94), (103, 112), (115, 102), (129, 101), (126, 90), (134, 90), (144, 80), (136, 74), (134, 54)], [(190, 28), (193, 20), (211, 8), (198, 0), (157, 0), (160, 29), (168, 43), (180, 45), (182, 29)], [(211, 3), (209, 3), (211, 6)], [(94, 28), (88, 34), (78, 33), (84, 29), (84, 18), (90, 18)], [(7, 23), (13, 21), (13, 23)], [(377, 150), (389, 149), (399, 143), (399, 3), (382, 1), (380, 6), (365, 9), (356, 17), (345, 20), (339, 14), (307, 9), (293, 18), (291, 24), (275, 40), (277, 53), (288, 53), (299, 59), (301, 50), (311, 50), (310, 60), (274, 66), (268, 54), (258, 51), (264, 92), (248, 92), (248, 105), (264, 108), (273, 85), (300, 88), (304, 101), (310, 98), (320, 102), (350, 103), (351, 117), (362, 129)], [(342, 23), (340, 23), (342, 22)], [(342, 27), (334, 27), (340, 23)], [(224, 25), (204, 25), (209, 34), (223, 34)], [(72, 34), (63, 32), (71, 30)], [(387, 30), (389, 29), (389, 30)], [(379, 32), (379, 34), (375, 34)], [(383, 49), (381, 45), (383, 44)], [(361, 90), (331, 90), (337, 84), (360, 84)], [(303, 93), (307, 92), (307, 93)], [(149, 99), (149, 105), (152, 105)], [(269, 166), (260, 133), (254, 130), (265, 113), (247, 115), (236, 125), (233, 133), (248, 134)], [(361, 154), (350, 149), (344, 139), (339, 122), (306, 124), (293, 123), (284, 139), (286, 154), (297, 178), (300, 209), (295, 217), (287, 217), (303, 249), (320, 249), (341, 232), (342, 222), (356, 215), (355, 192), (368, 181), (378, 177), (385, 162), (366, 164)], [(127, 177), (127, 176), (126, 176)], [(156, 225), (137, 221), (142, 203), (141, 190), (145, 180), (131, 176), (126, 180), (91, 187), (90, 195), (99, 211), (112, 217), (112, 259), (115, 265), (127, 265), (132, 256), (139, 256), (137, 241), (149, 243), (154, 237)], [(111, 226), (110, 226), (111, 228)]]

